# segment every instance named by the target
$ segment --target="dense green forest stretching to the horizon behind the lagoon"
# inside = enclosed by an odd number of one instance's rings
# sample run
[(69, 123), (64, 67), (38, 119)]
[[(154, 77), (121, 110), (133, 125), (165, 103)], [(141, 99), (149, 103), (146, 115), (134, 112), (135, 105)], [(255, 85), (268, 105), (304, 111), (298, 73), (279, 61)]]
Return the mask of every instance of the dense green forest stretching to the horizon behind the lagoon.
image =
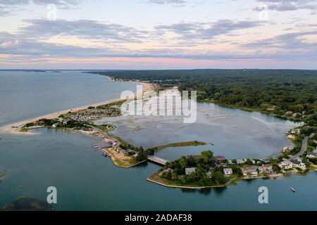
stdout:
[(198, 101), (258, 110), (317, 126), (316, 70), (123, 70), (93, 72), (162, 88), (197, 91)]

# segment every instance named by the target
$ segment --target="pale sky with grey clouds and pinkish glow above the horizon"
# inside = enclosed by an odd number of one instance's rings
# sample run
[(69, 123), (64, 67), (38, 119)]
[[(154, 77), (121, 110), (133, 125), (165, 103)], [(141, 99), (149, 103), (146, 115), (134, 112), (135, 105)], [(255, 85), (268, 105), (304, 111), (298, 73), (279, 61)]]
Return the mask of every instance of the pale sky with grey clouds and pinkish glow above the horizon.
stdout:
[(0, 0), (0, 69), (317, 70), (317, 0)]

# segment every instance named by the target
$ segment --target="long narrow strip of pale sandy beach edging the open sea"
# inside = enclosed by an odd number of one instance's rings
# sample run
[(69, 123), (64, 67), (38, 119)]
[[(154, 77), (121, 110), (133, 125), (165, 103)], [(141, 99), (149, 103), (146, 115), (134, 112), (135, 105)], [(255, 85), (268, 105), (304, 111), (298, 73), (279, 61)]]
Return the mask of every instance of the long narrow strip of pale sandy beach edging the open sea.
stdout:
[[(154, 90), (153, 84), (149, 84), (149, 83), (139, 83), (139, 84), (142, 84), (143, 90), (142, 90), (142, 93), (137, 93), (137, 94), (135, 94), (135, 96), (141, 96), (145, 91)], [(129, 97), (131, 98), (133, 96), (129, 96)], [(116, 99), (112, 99), (112, 100), (109, 100), (109, 101), (104, 101), (104, 102), (101, 102), (101, 103), (94, 103), (94, 104), (90, 104), (90, 105), (81, 106), (81, 107), (78, 107), (78, 108), (70, 108), (70, 109), (67, 109), (67, 110), (61, 110), (61, 111), (56, 112), (56, 113), (50, 113), (50, 114), (47, 114), (47, 115), (42, 115), (42, 116), (31, 118), (31, 119), (28, 119), (28, 120), (23, 120), (23, 121), (16, 122), (16, 123), (13, 123), (13, 124), (8, 124), (8, 125), (6, 125), (4, 127), (0, 127), (0, 132), (1, 133), (10, 133), (10, 134), (28, 134), (28, 135), (30, 135), (31, 134), (30, 132), (20, 132), (20, 131), (18, 131), (18, 129), (20, 129), (20, 127), (24, 126), (27, 123), (35, 122), (35, 121), (41, 120), (43, 118), (54, 119), (54, 118), (57, 118), (61, 114), (66, 114), (68, 112), (76, 112), (76, 111), (80, 111), (80, 110), (86, 110), (89, 106), (97, 107), (99, 105), (106, 105), (106, 104), (114, 103), (114, 102), (120, 101), (120, 100), (123, 100), (123, 99), (116, 98)]]

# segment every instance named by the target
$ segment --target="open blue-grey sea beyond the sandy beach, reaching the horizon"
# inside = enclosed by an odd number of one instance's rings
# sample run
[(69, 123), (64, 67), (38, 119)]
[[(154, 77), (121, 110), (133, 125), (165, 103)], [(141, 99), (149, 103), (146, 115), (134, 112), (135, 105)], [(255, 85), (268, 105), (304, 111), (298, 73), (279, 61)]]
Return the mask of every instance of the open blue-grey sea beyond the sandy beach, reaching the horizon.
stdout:
[(5, 124), (119, 98), (135, 83), (80, 71), (0, 71), (0, 127)]

